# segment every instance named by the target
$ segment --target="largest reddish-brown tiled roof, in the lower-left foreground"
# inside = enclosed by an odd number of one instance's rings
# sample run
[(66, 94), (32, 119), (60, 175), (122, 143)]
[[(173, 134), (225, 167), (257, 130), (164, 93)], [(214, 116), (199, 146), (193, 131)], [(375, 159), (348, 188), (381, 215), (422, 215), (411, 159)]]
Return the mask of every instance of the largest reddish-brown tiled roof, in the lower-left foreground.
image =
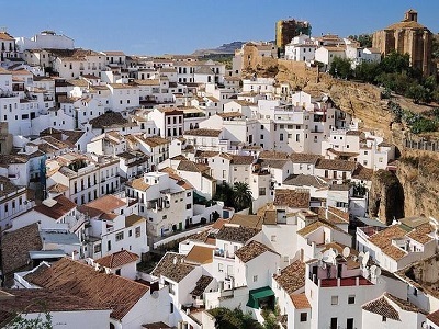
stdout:
[(55, 288), (113, 309), (111, 317), (121, 320), (148, 292), (149, 287), (125, 277), (94, 271), (94, 268), (63, 258), (50, 268), (40, 268), (24, 276), (27, 282)]

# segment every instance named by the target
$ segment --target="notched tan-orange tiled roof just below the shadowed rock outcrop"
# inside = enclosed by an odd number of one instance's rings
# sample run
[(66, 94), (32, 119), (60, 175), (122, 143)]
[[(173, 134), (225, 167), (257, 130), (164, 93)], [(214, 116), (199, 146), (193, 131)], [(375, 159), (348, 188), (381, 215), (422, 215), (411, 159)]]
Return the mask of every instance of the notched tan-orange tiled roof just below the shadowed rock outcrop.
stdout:
[(386, 256), (394, 260), (399, 260), (407, 254), (406, 251), (392, 245), (393, 239), (403, 238), (407, 232), (399, 225), (390, 226), (373, 236), (369, 241), (381, 249)]

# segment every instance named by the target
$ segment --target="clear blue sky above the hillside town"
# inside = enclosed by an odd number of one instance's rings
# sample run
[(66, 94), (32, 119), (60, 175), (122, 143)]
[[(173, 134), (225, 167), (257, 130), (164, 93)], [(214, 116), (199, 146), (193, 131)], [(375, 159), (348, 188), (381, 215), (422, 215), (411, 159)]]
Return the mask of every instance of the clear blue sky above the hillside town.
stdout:
[(0, 26), (14, 37), (52, 30), (98, 52), (191, 54), (234, 41), (273, 41), (275, 22), (285, 19), (308, 21), (314, 36), (372, 33), (410, 8), (439, 32), (437, 0), (0, 0)]

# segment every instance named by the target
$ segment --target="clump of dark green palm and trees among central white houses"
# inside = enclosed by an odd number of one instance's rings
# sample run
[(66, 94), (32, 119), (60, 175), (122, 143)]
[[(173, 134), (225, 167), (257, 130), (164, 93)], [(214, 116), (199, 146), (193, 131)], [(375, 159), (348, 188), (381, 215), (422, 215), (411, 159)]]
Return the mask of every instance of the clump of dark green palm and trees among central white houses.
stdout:
[(233, 188), (227, 183), (216, 186), (216, 194), (213, 200), (223, 201), (225, 206), (234, 207), (240, 212), (245, 208), (251, 208), (251, 191), (247, 183), (236, 182)]

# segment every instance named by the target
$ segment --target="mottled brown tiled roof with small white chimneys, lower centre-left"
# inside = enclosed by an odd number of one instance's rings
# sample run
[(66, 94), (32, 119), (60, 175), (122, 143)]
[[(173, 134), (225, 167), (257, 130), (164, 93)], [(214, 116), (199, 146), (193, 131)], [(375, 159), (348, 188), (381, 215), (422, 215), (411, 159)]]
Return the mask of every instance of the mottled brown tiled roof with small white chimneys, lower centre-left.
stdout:
[(184, 263), (183, 254), (167, 252), (153, 270), (151, 275), (157, 277), (161, 275), (175, 282), (180, 282), (191, 273), (193, 269), (193, 265)]

